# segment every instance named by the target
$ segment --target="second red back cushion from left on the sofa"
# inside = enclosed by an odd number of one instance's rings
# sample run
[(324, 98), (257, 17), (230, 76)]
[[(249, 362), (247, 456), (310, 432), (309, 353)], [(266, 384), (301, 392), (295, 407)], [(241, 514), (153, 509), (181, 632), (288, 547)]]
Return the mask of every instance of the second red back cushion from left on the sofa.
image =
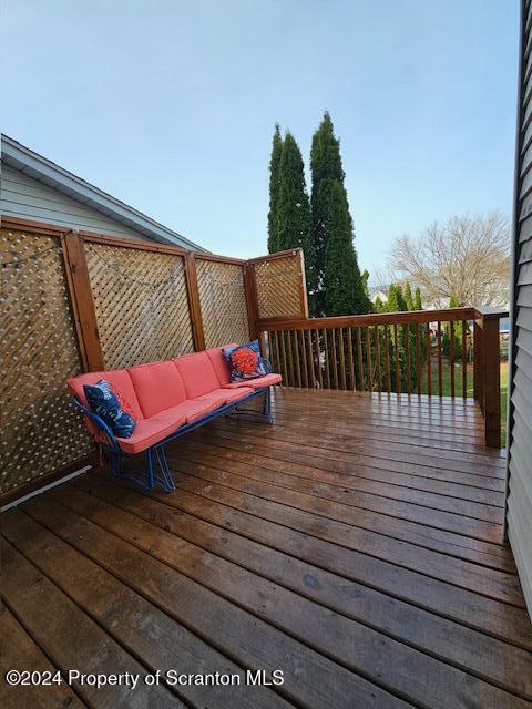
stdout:
[(186, 399), (183, 380), (172, 361), (140, 364), (127, 371), (146, 419)]

